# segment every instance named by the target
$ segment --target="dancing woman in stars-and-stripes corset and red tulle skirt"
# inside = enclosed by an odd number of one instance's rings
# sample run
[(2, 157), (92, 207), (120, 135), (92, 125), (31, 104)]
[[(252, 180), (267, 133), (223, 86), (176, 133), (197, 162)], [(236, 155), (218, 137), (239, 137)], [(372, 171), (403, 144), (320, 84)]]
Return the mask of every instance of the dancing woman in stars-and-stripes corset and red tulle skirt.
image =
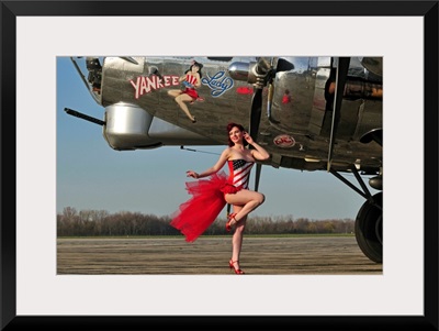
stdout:
[[(248, 189), (248, 179), (256, 159), (268, 159), (270, 155), (245, 132), (243, 125), (229, 123), (227, 132), (228, 147), (223, 151), (214, 166), (201, 174), (187, 172), (188, 177), (211, 178), (187, 183), (187, 189), (193, 197), (180, 206), (171, 225), (180, 230), (188, 242), (192, 242), (212, 224), (226, 203), (232, 205), (233, 213), (228, 217), (226, 230), (235, 228), (235, 233), (228, 265), (235, 274), (241, 275), (244, 272), (239, 267), (239, 255), (247, 214), (264, 201), (262, 194)], [(254, 148), (246, 148), (247, 145)], [(219, 172), (226, 163), (228, 177)]]

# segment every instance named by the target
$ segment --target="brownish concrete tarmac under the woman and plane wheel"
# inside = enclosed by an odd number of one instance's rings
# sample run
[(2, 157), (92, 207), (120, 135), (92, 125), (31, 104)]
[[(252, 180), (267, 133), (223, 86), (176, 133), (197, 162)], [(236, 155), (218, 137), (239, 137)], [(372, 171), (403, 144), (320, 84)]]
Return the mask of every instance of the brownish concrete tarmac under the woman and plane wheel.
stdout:
[[(57, 240), (58, 275), (228, 275), (232, 236), (80, 238)], [(352, 236), (245, 235), (240, 267), (248, 275), (376, 275)]]

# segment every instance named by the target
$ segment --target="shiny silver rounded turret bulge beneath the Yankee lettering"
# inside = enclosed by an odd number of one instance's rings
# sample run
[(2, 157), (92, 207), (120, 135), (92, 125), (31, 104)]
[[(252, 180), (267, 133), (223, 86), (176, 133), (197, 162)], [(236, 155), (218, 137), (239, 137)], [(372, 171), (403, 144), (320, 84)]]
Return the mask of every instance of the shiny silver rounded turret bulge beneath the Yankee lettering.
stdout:
[(135, 104), (123, 102), (105, 108), (102, 134), (110, 147), (117, 151), (165, 145), (219, 145), (209, 137), (153, 117)]

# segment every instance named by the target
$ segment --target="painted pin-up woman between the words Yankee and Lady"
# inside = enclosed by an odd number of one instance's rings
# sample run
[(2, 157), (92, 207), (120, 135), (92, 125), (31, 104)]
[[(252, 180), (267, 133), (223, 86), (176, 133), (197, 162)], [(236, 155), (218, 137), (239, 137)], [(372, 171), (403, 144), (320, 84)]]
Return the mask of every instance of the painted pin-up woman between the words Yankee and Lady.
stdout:
[(192, 123), (196, 123), (195, 117), (191, 114), (188, 106), (184, 102), (193, 102), (195, 100), (201, 99), (199, 93), (196, 92), (196, 88), (201, 86), (201, 68), (202, 64), (198, 62), (193, 62), (193, 64), (189, 67), (189, 70), (184, 73), (183, 76), (180, 77), (179, 81), (183, 82), (183, 90), (169, 90), (168, 95), (170, 97), (176, 98), (176, 102), (180, 108), (184, 111), (188, 118), (192, 121)]

